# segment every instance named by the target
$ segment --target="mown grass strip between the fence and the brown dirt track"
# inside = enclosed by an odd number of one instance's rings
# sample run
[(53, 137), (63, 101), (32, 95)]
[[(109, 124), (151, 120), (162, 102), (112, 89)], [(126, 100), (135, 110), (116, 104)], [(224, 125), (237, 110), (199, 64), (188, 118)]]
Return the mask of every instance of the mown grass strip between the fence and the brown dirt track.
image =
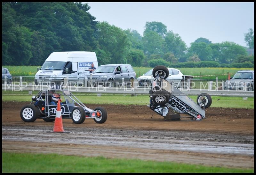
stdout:
[[(33, 95), (38, 92), (33, 91)], [(97, 96), (96, 93), (78, 93), (74, 95), (84, 104), (120, 104), (120, 105), (148, 105), (148, 95), (126, 95), (126, 94), (101, 94)], [(15, 98), (13, 98), (15, 95)], [(31, 101), (32, 95), (28, 95), (28, 91), (2, 91), (2, 101)], [(196, 101), (197, 96), (189, 96)], [(94, 100), (91, 100), (94, 99)], [(219, 99), (219, 100), (218, 100)], [(254, 109), (254, 98), (243, 100), (242, 97), (218, 97), (212, 96), (211, 107), (224, 108), (247, 108)]]

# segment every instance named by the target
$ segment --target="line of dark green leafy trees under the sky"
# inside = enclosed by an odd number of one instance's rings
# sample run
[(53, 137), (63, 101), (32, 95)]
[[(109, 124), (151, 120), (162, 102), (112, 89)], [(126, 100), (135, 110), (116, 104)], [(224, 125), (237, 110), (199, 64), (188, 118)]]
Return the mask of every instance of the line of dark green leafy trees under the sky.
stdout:
[[(161, 22), (146, 22), (141, 36), (136, 30), (97, 21), (89, 9), (80, 2), (2, 2), (2, 64), (38, 66), (58, 51), (96, 52), (99, 65), (254, 64), (254, 56), (247, 54), (246, 47), (232, 41), (212, 43), (198, 38), (188, 47), (179, 34), (167, 31)], [(244, 33), (244, 40), (254, 48), (252, 29)]]

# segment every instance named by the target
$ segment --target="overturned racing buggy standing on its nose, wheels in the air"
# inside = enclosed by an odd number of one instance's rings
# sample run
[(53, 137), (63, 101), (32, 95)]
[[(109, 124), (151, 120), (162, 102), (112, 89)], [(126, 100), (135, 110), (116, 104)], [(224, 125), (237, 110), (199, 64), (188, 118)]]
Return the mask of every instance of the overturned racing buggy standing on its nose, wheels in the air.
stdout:
[[(165, 120), (180, 120), (180, 114), (188, 114), (192, 120), (206, 119), (205, 109), (212, 104), (207, 93), (201, 93), (196, 103), (176, 88), (174, 82), (168, 82), (169, 70), (165, 66), (156, 66), (152, 72), (152, 84), (149, 90), (148, 107), (164, 117)], [(186, 117), (186, 116), (182, 116)]]

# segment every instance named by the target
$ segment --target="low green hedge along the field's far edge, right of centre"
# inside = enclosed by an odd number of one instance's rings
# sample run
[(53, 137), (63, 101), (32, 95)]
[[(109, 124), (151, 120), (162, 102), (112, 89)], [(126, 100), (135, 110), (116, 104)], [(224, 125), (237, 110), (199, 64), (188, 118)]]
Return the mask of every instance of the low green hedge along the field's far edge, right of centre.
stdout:
[(251, 62), (243, 63), (231, 63), (231, 64), (220, 64), (215, 61), (200, 61), (200, 62), (179, 62), (172, 64), (163, 59), (153, 59), (148, 62), (150, 67), (155, 67), (157, 65), (165, 65), (166, 67), (172, 68), (254, 68), (254, 64)]

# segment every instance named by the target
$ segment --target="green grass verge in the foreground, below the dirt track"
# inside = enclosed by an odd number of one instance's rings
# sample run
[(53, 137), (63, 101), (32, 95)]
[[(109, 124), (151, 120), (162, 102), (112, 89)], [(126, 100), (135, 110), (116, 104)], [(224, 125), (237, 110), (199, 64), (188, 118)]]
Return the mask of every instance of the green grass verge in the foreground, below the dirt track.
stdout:
[(2, 172), (235, 172), (253, 173), (254, 169), (231, 169), (173, 162), (143, 161), (105, 157), (78, 157), (58, 154), (2, 152)]

